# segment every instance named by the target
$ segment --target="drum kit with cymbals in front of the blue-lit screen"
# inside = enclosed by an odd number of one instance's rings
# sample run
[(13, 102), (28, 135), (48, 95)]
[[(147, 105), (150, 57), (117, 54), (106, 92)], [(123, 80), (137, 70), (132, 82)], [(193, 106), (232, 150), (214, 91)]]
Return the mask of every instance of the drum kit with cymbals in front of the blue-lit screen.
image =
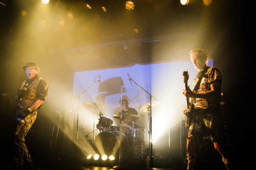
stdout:
[[(104, 109), (104, 107), (98, 106), (96, 103), (86, 102), (85, 104), (93, 106), (94, 108), (99, 108), (99, 110)], [(147, 103), (140, 108), (139, 113), (141, 115), (147, 114), (148, 108), (150, 107), (149, 104), (150, 103)], [(158, 104), (159, 102), (154, 102), (152, 106), (155, 107), (158, 106)], [(125, 128), (120, 127), (123, 126), (121, 124), (120, 126), (113, 126), (113, 120), (108, 117), (102, 116), (101, 113), (99, 114), (99, 116), (99, 122), (98, 124), (96, 124), (96, 128), (100, 130), (100, 133), (95, 136), (95, 139), (93, 137), (92, 145), (94, 147), (103, 147), (105, 150), (111, 150), (111, 153), (116, 153), (117, 155), (119, 155), (118, 151), (121, 148), (121, 154), (123, 159), (125, 159), (129, 154), (133, 157), (143, 157), (145, 156), (145, 154), (147, 154), (144, 152), (146, 147), (146, 131), (144, 126), (145, 123), (143, 125), (139, 125), (134, 121), (127, 120), (132, 122), (132, 129), (126, 130)], [(139, 115), (128, 113), (116, 114), (113, 115), (113, 118), (126, 120), (127, 116), (132, 118), (133, 120), (141, 118), (141, 116)], [(137, 127), (140, 128), (134, 128), (135, 124), (137, 125)], [(86, 136), (88, 137), (88, 135)]]

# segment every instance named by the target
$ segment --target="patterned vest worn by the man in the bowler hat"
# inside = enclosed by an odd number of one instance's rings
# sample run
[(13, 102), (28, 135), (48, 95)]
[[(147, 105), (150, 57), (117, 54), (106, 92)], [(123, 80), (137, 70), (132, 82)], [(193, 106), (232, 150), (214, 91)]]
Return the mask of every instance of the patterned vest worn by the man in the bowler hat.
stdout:
[[(20, 102), (20, 107), (24, 108), (24, 107), (29, 107), (31, 106), (36, 100), (37, 100), (37, 87), (39, 84), (39, 81), (43, 79), (43, 78), (37, 78), (35, 79), (31, 84), (29, 84), (26, 88), (26, 92), (24, 94), (24, 97), (22, 98), (21, 102)], [(26, 80), (22, 83), (20, 89), (22, 90), (23, 87), (26, 84)]]

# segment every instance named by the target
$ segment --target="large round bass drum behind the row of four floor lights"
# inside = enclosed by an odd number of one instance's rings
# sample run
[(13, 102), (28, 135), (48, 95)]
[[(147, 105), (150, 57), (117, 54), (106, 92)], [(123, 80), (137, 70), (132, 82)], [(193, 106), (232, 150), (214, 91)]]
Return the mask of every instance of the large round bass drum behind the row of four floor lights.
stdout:
[[(94, 139), (94, 148), (100, 154), (114, 155), (115, 158), (119, 157), (120, 148), (121, 156), (125, 159), (129, 152), (129, 142), (127, 137), (119, 131), (103, 131), (100, 132)], [(121, 139), (121, 147), (120, 147)], [(104, 150), (104, 153), (102, 152)]]

